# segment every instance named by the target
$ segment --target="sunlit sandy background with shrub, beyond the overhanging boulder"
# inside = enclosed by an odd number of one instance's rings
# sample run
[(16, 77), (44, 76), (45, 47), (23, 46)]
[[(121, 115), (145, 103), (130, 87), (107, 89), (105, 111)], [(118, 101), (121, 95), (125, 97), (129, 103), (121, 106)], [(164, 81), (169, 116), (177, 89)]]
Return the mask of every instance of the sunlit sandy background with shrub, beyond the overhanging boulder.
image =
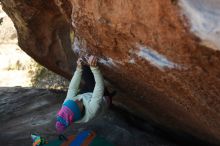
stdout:
[(0, 5), (0, 87), (66, 89), (69, 81), (39, 65), (17, 44), (11, 19)]

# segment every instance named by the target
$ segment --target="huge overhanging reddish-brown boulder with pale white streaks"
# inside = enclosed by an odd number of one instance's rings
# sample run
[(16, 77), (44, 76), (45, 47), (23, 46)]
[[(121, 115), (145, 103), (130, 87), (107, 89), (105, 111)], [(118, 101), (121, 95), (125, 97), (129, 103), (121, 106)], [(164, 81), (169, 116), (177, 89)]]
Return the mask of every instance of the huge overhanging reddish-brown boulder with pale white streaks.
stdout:
[(70, 78), (77, 54), (95, 54), (136, 115), (220, 144), (217, 0), (1, 2), (19, 45), (41, 64)]

